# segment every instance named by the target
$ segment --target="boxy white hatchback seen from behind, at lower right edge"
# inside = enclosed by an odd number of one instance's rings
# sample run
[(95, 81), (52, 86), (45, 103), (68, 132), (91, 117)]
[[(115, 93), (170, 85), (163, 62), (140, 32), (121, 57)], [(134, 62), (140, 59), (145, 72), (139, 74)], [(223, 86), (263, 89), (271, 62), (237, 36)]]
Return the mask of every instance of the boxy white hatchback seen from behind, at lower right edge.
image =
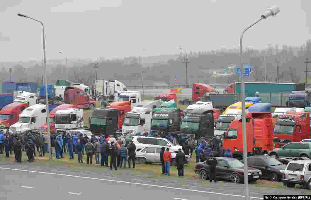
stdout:
[(283, 174), (283, 184), (294, 188), (295, 184), (311, 189), (311, 160), (295, 160), (288, 163)]

